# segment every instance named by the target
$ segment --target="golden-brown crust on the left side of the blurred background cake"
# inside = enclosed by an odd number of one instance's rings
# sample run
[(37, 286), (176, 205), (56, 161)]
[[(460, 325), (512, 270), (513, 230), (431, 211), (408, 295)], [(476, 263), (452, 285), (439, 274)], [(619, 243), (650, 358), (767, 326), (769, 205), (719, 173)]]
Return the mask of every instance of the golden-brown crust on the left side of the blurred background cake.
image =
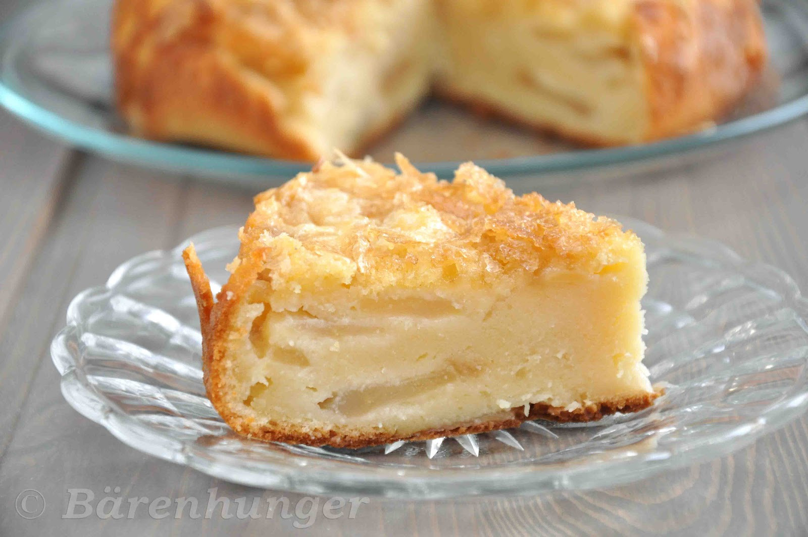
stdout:
[[(250, 74), (245, 57), (215, 44), (231, 27), (221, 2), (161, 4), (166, 2), (119, 0), (113, 15), (116, 100), (135, 133), (286, 159), (318, 158), (297, 133), (281, 126), (283, 99), (272, 82)], [(249, 44), (247, 33), (240, 37)], [(260, 45), (266, 53), (274, 50)], [(279, 69), (303, 61), (287, 55)]]

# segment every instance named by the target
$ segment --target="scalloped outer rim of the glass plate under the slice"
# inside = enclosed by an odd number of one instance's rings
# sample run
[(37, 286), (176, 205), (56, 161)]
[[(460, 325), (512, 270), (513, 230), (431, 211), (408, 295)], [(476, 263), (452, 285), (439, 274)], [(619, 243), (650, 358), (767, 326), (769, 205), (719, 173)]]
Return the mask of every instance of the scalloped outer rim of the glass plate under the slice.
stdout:
[[(802, 297), (796, 283), (779, 268), (764, 263), (743, 260), (722, 243), (693, 235), (671, 234), (634, 218), (615, 217), (624, 225), (644, 237), (653, 236), (675, 246), (685, 245), (698, 255), (734, 268), (739, 273), (752, 271), (767, 273), (787, 290), (789, 305), (800, 313), (801, 323), (808, 317), (808, 301)], [(121, 264), (105, 285), (92, 287), (79, 293), (67, 311), (67, 326), (54, 338), (51, 345), (53, 363), (61, 374), (61, 391), (65, 400), (83, 416), (103, 425), (124, 444), (159, 459), (196, 468), (210, 476), (240, 484), (273, 488), (296, 493), (348, 494), (362, 493), (382, 497), (410, 499), (436, 499), (480, 495), (528, 495), (558, 490), (583, 490), (625, 484), (654, 476), (660, 471), (680, 468), (727, 455), (755, 442), (765, 433), (793, 421), (808, 408), (808, 378), (801, 374), (795, 383), (775, 403), (769, 404), (756, 416), (740, 422), (731, 429), (722, 429), (720, 436), (696, 439), (687, 449), (648, 450), (629, 457), (592, 459), (585, 463), (577, 460), (563, 463), (520, 463), (496, 467), (419, 468), (385, 467), (352, 463), (335, 459), (312, 459), (311, 453), (267, 452), (260, 462), (251, 460), (245, 467), (237, 456), (221, 451), (208, 452), (196, 441), (180, 441), (170, 433), (150, 428), (133, 416), (122, 412), (105, 395), (88, 382), (86, 374), (77, 366), (78, 337), (82, 333), (79, 309), (88, 298), (109, 294), (115, 290), (121, 277), (145, 260), (177, 259), (189, 241), (200, 251), (206, 244), (216, 243), (222, 235), (235, 236), (234, 226), (223, 226), (194, 235), (171, 250), (155, 250), (136, 256)], [(808, 331), (808, 328), (806, 328)], [(808, 359), (808, 357), (806, 357)], [(642, 412), (653, 412), (653, 407)], [(531, 467), (533, 466), (533, 467)]]

